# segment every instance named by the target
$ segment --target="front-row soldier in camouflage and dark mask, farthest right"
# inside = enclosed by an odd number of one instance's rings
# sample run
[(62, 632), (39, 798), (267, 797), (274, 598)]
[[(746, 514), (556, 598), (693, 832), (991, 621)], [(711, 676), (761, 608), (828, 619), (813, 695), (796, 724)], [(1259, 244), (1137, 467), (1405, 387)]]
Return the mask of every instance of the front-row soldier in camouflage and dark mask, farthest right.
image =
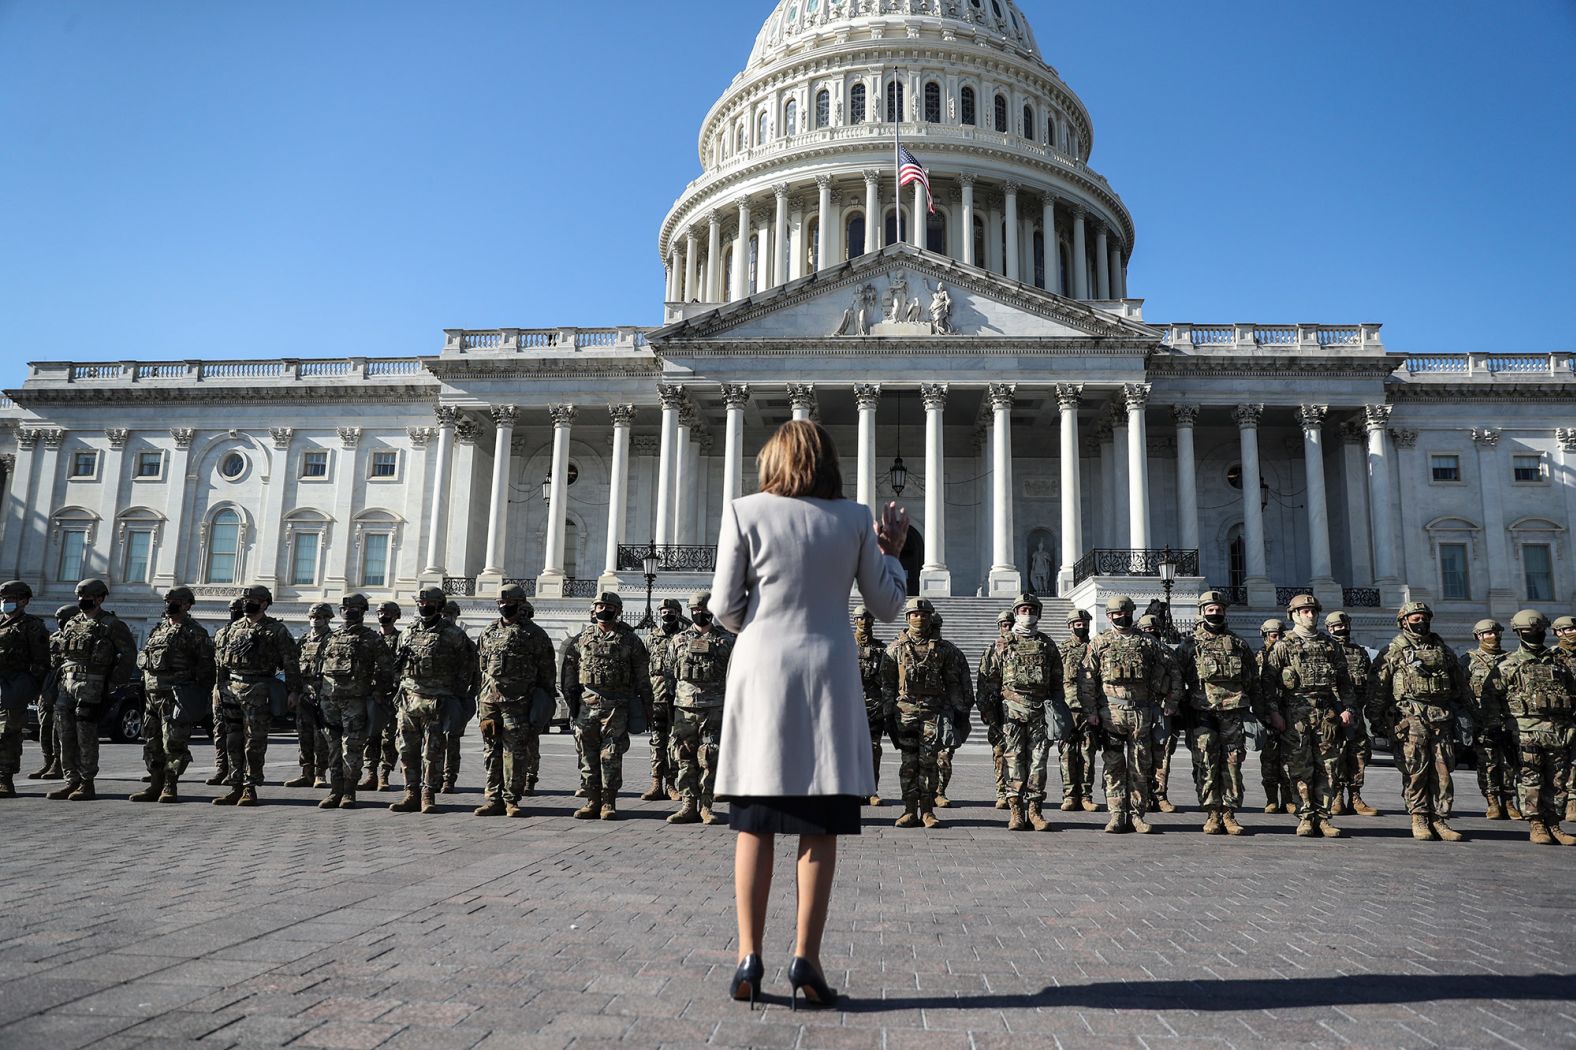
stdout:
[(1500, 661), (1483, 689), (1510, 713), (1516, 741), (1516, 785), (1535, 845), (1576, 845), (1560, 829), (1559, 791), (1576, 747), (1576, 672), (1546, 645), (1549, 621), (1522, 609), (1510, 621), (1521, 648)]

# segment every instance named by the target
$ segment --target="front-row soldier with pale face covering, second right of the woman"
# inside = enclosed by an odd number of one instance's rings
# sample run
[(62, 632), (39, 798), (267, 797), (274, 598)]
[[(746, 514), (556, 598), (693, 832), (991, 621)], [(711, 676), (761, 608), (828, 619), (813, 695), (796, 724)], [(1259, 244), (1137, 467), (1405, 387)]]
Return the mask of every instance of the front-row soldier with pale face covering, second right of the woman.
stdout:
[(1067, 735), (1072, 713), (1062, 695), (1062, 654), (1056, 643), (1040, 632), (1043, 607), (1034, 594), (1020, 594), (1013, 602), (1013, 624), (987, 654), (990, 665), (980, 667), (980, 716), (987, 725), (1001, 727), (1002, 752), (1007, 758), (1012, 817), (1007, 831), (1048, 831), (1050, 821), (1040, 812), (1045, 801), (1050, 741)]

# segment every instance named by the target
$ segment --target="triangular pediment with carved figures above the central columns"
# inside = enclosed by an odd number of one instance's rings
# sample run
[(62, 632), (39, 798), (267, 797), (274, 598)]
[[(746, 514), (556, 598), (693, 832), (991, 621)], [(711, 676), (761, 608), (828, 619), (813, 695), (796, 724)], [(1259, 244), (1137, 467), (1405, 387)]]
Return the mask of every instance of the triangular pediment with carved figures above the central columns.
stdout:
[(983, 339), (1152, 347), (1163, 331), (953, 259), (894, 244), (840, 266), (690, 315), (651, 344)]

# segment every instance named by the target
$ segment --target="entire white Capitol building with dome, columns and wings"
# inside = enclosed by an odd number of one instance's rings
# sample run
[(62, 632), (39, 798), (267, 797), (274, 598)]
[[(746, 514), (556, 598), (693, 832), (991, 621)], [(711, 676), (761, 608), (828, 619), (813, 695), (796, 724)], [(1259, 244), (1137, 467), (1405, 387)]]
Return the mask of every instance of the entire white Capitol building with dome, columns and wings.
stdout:
[[(895, 186), (894, 121), (930, 172)], [(727, 500), (788, 418), (898, 500), (911, 591), (979, 629), (1206, 586), (1256, 637), (1311, 588), (1393, 632), (1576, 591), (1571, 353), (1388, 353), (1376, 323), (1184, 323), (1127, 282), (1133, 216), (1089, 110), (1010, 0), (780, 0), (657, 230), (657, 328), (455, 328), (419, 358), (39, 361), (0, 402), (0, 571), (134, 629), (192, 583), (222, 618), (504, 580), (558, 634), (709, 580)], [(1229, 277), (1229, 274), (1221, 274)], [(485, 318), (493, 320), (493, 318)], [(634, 618), (632, 616), (632, 618)], [(950, 624), (949, 624), (950, 631)], [(993, 634), (994, 631), (990, 629)]]

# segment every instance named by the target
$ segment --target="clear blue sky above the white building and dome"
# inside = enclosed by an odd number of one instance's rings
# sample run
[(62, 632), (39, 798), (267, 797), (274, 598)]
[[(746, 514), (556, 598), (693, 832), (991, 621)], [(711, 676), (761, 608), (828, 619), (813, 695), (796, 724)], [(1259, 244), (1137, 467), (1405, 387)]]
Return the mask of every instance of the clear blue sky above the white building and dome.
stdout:
[[(0, 0), (0, 385), (660, 320), (768, 0)], [(1021, 0), (1150, 320), (1576, 348), (1571, 0)]]

